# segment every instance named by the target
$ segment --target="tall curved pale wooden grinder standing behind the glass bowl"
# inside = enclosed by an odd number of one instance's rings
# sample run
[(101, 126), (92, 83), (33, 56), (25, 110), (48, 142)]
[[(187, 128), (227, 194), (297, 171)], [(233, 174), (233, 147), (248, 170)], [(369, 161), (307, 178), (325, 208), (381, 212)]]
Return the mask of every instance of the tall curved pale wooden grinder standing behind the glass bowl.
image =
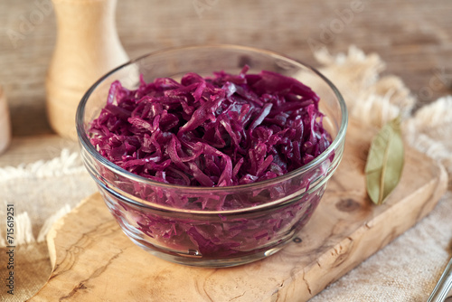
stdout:
[(75, 112), (96, 80), (128, 61), (115, 25), (116, 0), (52, 0), (57, 41), (46, 80), (52, 129), (76, 139)]

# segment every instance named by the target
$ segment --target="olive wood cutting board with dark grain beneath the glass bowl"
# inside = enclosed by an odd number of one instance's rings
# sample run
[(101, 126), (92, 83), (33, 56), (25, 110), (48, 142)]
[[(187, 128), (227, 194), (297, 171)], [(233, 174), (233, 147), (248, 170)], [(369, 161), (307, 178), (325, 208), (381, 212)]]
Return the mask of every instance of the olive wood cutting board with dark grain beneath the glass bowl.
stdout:
[(441, 165), (409, 148), (399, 186), (375, 206), (364, 165), (375, 131), (349, 123), (344, 159), (305, 229), (265, 260), (186, 267), (138, 248), (95, 193), (48, 235), (52, 275), (30, 301), (306, 301), (430, 212), (446, 192)]

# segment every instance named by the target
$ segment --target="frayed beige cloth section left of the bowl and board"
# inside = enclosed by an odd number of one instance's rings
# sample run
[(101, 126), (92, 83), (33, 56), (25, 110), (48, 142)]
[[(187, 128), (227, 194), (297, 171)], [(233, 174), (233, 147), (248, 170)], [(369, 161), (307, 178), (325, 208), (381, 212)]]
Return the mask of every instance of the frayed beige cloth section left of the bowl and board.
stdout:
[[(6, 205), (14, 204), (14, 269), (7, 268), (7, 248), (0, 249), (0, 301), (24, 301), (42, 288), (51, 273), (45, 234), (95, 184), (78, 154), (63, 150), (51, 161), (0, 169), (0, 247), (5, 247)], [(5, 278), (14, 272), (14, 296)]]

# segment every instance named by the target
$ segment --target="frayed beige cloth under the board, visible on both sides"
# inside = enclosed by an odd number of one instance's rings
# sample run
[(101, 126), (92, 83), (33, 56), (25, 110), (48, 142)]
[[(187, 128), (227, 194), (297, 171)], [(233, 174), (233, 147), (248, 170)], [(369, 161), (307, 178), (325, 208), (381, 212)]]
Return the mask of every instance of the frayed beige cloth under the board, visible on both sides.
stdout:
[[(381, 76), (376, 54), (351, 47), (346, 54), (316, 53), (321, 71), (343, 93), (353, 118), (373, 126), (399, 114), (411, 146), (437, 159), (452, 175), (452, 97), (417, 110), (416, 98), (394, 76)], [(449, 183), (450, 184), (450, 183)], [(0, 169), (0, 300), (24, 301), (51, 273), (45, 234), (59, 217), (96, 192), (78, 153), (61, 150), (48, 162)], [(14, 296), (5, 286), (6, 204), (14, 204)], [(325, 288), (320, 301), (426, 301), (452, 255), (452, 186), (437, 207), (386, 248)], [(450, 294), (449, 294), (450, 295)]]

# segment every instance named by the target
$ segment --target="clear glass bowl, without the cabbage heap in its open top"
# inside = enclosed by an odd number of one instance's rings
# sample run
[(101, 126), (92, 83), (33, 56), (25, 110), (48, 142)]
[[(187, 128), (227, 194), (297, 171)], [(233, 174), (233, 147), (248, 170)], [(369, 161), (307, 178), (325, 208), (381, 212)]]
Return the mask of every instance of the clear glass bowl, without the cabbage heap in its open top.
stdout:
[[(333, 142), (308, 165), (274, 179), (230, 187), (157, 183), (109, 162), (89, 142), (89, 123), (99, 116), (108, 89), (120, 80), (137, 89), (160, 77), (180, 79), (186, 72), (238, 74), (276, 71), (296, 78), (320, 96), (324, 127)], [(127, 236), (164, 260), (200, 267), (230, 267), (260, 260), (281, 250), (308, 222), (344, 151), (347, 110), (334, 85), (318, 71), (275, 52), (233, 45), (193, 46), (152, 52), (127, 62), (98, 80), (77, 110), (81, 156), (109, 211)], [(171, 204), (218, 203), (247, 199), (255, 205), (222, 211), (176, 208)]]

